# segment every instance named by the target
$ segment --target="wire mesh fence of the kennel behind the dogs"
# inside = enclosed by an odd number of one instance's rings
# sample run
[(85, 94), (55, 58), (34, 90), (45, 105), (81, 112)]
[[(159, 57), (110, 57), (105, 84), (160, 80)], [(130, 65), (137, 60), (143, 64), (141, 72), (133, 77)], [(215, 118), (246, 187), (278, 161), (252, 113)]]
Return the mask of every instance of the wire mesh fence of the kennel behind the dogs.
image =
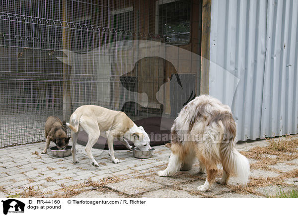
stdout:
[(200, 0), (0, 4), (0, 147), (45, 140), (49, 115), (68, 121), (82, 105), (174, 117), (198, 93), (198, 59), (176, 54), (173, 65), (145, 42), (199, 54)]

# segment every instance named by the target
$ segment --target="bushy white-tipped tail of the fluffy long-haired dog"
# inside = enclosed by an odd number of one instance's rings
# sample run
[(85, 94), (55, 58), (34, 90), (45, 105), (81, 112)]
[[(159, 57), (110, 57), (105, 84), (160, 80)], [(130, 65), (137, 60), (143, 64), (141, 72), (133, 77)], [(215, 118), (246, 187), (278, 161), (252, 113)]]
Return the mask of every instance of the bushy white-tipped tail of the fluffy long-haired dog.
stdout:
[(236, 174), (243, 184), (246, 184), (249, 179), (249, 161), (241, 155), (235, 148), (235, 141), (229, 144), (222, 144), (221, 157), (224, 169), (227, 172)]

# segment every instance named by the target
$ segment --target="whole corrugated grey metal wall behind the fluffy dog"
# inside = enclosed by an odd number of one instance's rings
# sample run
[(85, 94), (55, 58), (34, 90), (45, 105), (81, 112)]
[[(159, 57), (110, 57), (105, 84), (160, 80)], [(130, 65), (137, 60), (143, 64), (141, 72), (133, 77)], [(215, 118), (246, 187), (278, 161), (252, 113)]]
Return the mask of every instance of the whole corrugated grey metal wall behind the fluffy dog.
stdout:
[(212, 0), (210, 46), (209, 93), (238, 140), (298, 133), (297, 0)]

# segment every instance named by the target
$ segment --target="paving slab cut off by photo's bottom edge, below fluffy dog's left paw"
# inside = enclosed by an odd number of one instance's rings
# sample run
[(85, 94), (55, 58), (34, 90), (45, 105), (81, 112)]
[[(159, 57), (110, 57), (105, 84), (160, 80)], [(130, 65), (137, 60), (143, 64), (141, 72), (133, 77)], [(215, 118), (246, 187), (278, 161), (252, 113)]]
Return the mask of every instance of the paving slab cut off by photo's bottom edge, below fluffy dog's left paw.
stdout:
[(173, 190), (169, 188), (162, 188), (158, 189), (156, 191), (150, 191), (142, 196), (140, 198), (202, 198), (201, 195), (191, 195), (187, 191), (183, 190)]

